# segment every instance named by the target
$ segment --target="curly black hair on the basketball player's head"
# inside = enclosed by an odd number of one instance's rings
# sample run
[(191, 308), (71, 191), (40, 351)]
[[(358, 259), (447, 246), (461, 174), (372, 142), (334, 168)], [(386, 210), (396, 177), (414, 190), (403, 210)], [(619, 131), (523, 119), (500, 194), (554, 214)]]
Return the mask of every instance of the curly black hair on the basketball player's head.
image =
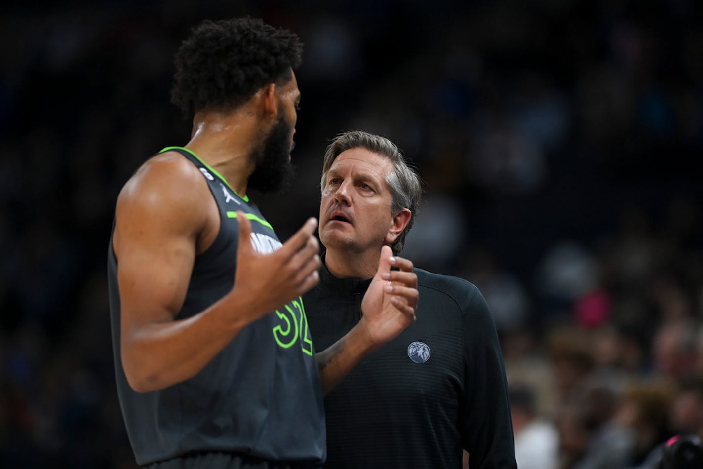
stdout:
[(185, 117), (236, 108), (262, 86), (288, 82), (301, 56), (296, 34), (262, 20), (205, 20), (176, 52), (171, 101)]

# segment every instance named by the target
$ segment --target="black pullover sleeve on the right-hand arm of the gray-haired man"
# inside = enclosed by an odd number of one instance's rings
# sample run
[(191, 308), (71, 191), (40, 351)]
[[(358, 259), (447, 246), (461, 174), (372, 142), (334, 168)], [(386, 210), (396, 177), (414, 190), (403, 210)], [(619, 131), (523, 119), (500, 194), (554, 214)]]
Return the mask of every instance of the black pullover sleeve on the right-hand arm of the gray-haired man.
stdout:
[(460, 429), (471, 469), (515, 462), (508, 384), (498, 333), (483, 295), (469, 284), (463, 309), (465, 383)]

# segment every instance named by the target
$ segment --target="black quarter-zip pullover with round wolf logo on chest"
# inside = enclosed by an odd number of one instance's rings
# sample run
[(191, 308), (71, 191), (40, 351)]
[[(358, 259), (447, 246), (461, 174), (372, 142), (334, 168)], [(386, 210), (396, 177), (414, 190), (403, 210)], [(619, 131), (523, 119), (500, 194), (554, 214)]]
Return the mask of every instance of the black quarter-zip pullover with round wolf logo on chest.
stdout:
[[(321, 281), (304, 295), (322, 350), (361, 319), (370, 280)], [(368, 356), (325, 397), (326, 468), (516, 468), (505, 368), (479, 290), (415, 269), (417, 321)]]

